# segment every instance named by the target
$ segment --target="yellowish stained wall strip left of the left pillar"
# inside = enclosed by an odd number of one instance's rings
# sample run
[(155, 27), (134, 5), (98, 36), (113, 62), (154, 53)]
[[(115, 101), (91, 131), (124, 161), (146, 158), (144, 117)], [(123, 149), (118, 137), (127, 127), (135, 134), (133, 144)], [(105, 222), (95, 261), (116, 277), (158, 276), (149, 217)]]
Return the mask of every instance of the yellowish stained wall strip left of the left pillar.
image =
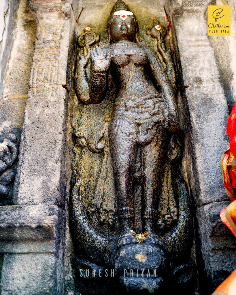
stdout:
[[(10, 1), (11, 2), (11, 1)], [(13, 2), (13, 1), (12, 1)], [(0, 100), (0, 139), (3, 139), (7, 133), (14, 133), (17, 139), (20, 139), (24, 107), (29, 89), (29, 77), (32, 65), (32, 55), (34, 51), (34, 42), (36, 38), (36, 18), (30, 10), (27, 0), (20, 1), (19, 9), (14, 20), (16, 29), (15, 37), (8, 37), (8, 42), (13, 42), (7, 70), (4, 71), (4, 85), (2, 89), (2, 99)], [(12, 32), (13, 33), (13, 32)]]

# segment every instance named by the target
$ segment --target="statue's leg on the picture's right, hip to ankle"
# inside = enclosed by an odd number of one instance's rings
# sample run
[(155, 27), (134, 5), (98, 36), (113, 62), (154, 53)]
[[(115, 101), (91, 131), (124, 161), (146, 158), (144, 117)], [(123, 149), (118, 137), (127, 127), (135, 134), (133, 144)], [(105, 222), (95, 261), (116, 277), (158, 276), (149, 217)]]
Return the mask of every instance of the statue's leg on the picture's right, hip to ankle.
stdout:
[(153, 231), (153, 219), (157, 218), (157, 199), (161, 189), (161, 177), (167, 144), (165, 132), (158, 129), (154, 140), (142, 148), (143, 226), (144, 230), (150, 232)]

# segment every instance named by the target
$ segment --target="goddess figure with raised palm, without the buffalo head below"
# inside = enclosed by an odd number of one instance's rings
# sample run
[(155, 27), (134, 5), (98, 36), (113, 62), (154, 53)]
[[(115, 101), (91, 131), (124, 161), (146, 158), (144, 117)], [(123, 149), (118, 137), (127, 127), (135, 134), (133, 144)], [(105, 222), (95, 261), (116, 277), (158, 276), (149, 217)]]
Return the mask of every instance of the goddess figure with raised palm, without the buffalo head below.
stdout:
[[(141, 147), (143, 229), (151, 238), (168, 145), (166, 135), (177, 127), (175, 95), (155, 51), (139, 42), (137, 19), (122, 1), (110, 14), (107, 35), (109, 46), (95, 46), (90, 51), (89, 81), (83, 74), (78, 77), (79, 100), (83, 104), (101, 103), (110, 69), (117, 94), (108, 137), (122, 235), (127, 240), (127, 232), (134, 226), (133, 177)], [(125, 240), (121, 238), (120, 243)]]

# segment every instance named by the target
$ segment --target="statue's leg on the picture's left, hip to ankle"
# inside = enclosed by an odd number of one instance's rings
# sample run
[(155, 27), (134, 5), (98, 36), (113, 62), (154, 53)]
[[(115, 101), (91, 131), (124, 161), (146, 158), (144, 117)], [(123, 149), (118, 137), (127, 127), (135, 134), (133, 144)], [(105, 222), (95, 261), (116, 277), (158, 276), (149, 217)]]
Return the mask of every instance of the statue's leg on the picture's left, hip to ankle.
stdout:
[(137, 156), (136, 126), (120, 117), (113, 117), (109, 126), (109, 144), (119, 219), (122, 230), (133, 227), (133, 175)]

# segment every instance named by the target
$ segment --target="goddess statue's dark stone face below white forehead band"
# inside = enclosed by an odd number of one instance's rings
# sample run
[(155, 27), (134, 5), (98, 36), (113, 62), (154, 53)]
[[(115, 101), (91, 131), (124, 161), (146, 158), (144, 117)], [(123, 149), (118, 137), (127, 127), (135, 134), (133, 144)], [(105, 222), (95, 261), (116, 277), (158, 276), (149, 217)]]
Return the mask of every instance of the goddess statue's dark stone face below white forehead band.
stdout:
[(135, 22), (132, 16), (122, 19), (119, 15), (115, 15), (110, 26), (110, 34), (113, 42), (120, 40), (134, 41), (135, 39)]

